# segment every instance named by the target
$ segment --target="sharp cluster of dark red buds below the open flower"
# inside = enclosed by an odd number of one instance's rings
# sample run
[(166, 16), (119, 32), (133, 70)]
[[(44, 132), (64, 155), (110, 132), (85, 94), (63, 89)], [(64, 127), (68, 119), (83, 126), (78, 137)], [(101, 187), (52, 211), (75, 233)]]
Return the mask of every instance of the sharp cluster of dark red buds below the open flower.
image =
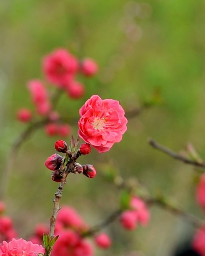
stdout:
[(51, 179), (55, 182), (61, 182), (62, 178), (67, 176), (70, 172), (74, 174), (84, 174), (88, 178), (94, 178), (96, 170), (92, 164), (81, 165), (76, 162), (77, 158), (81, 155), (87, 155), (91, 152), (91, 146), (88, 143), (82, 143), (77, 148), (79, 140), (71, 140), (71, 146), (67, 146), (64, 140), (57, 140), (55, 142), (55, 150), (60, 153), (64, 153), (65, 156), (60, 156), (55, 153), (47, 158), (45, 166), (52, 170)]

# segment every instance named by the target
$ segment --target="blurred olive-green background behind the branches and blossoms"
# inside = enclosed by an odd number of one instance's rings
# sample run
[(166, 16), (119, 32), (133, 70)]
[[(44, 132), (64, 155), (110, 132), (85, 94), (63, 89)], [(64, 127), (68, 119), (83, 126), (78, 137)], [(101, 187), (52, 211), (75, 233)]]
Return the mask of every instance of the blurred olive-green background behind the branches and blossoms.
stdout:
[[(122, 142), (109, 152), (93, 150), (80, 158), (82, 164), (94, 164), (98, 175), (93, 180), (70, 175), (63, 204), (74, 206), (91, 225), (107, 216), (119, 198), (119, 191), (103, 179), (104, 165), (112, 164), (124, 178), (138, 178), (151, 194), (163, 191), (203, 218), (195, 203), (193, 168), (152, 149), (147, 138), (175, 151), (191, 142), (205, 159), (204, 13), (203, 0), (1, 0), (1, 170), (12, 142), (25, 129), (16, 121), (16, 110), (31, 106), (28, 80), (44, 79), (42, 57), (64, 47), (79, 58), (94, 58), (100, 67), (95, 78), (78, 78), (86, 86), (83, 98), (61, 98), (58, 110), (64, 116), (78, 118), (79, 108), (93, 94), (120, 100), (129, 110), (157, 91), (160, 104), (130, 119)], [(77, 123), (73, 134), (77, 134)], [(57, 184), (51, 181), (44, 161), (54, 153), (57, 139), (39, 129), (16, 156), (5, 202), (7, 214), (24, 238), (35, 224), (49, 222)], [(157, 207), (151, 212), (147, 228), (128, 232), (118, 221), (110, 225), (106, 231), (113, 246), (106, 252), (97, 249), (96, 255), (171, 256), (191, 239), (190, 224)]]

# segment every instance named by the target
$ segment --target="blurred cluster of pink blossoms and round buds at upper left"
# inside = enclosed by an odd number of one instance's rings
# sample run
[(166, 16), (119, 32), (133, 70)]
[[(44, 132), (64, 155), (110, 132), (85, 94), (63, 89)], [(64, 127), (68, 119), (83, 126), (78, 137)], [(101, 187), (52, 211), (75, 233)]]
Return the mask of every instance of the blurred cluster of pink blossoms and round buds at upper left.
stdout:
[[(59, 91), (65, 92), (68, 97), (79, 99), (85, 94), (85, 86), (76, 80), (77, 75), (92, 77), (98, 71), (98, 64), (91, 58), (79, 60), (67, 49), (59, 48), (44, 56), (42, 72), (45, 80), (55, 86)], [(55, 97), (50, 97), (45, 82), (30, 80), (28, 82), (31, 101), (35, 113), (28, 108), (21, 108), (17, 112), (20, 122), (30, 122), (36, 119), (35, 115), (46, 120), (45, 133), (48, 136), (69, 136), (71, 127), (63, 122), (61, 115), (55, 110)]]

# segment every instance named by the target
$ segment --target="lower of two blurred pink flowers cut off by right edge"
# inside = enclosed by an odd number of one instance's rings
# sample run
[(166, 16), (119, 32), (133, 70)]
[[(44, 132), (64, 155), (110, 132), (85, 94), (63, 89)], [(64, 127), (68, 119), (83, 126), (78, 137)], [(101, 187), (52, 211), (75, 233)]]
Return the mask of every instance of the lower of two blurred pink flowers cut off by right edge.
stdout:
[(201, 256), (205, 256), (205, 226), (197, 230), (192, 241), (192, 247)]

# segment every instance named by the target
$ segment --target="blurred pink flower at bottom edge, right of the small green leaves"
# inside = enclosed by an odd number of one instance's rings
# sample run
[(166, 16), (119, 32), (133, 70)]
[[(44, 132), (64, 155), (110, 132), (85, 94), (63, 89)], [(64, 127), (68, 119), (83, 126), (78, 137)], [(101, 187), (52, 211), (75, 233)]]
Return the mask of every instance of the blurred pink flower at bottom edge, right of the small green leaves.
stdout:
[(52, 256), (93, 256), (91, 245), (71, 230), (59, 234)]

